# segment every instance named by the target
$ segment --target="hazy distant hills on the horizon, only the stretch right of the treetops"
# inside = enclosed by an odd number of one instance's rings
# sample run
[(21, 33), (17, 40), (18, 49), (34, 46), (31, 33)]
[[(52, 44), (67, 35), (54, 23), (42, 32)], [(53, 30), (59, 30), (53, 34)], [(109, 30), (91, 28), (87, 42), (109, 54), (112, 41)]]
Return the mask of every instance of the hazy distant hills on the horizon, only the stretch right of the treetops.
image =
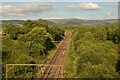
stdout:
[(54, 22), (58, 25), (102, 25), (102, 24), (111, 24), (117, 23), (117, 19), (111, 20), (82, 20), (82, 19), (48, 19), (47, 21)]

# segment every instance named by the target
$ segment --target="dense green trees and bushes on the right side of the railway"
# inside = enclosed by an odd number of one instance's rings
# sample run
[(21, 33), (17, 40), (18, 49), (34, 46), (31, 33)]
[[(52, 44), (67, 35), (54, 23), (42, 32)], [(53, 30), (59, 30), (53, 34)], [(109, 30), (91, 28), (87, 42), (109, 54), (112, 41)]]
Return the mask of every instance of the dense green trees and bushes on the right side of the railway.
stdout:
[(72, 29), (65, 77), (119, 78), (118, 24)]

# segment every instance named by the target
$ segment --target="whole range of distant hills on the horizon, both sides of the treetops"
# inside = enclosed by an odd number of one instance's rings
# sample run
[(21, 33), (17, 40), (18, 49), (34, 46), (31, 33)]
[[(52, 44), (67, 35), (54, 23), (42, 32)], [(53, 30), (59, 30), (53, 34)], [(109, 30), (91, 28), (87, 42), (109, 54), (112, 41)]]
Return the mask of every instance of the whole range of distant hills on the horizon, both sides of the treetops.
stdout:
[[(117, 19), (110, 20), (83, 20), (83, 19), (45, 19), (49, 25), (103, 25), (117, 23)], [(11, 22), (16, 24), (21, 24), (25, 20), (3, 20), (0, 22)]]

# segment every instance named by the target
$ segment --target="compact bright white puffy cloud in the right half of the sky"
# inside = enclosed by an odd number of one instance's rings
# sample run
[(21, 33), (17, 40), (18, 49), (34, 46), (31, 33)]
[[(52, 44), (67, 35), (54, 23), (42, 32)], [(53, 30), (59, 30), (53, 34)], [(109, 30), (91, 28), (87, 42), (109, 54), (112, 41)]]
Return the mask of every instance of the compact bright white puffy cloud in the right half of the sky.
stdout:
[(70, 9), (70, 10), (98, 10), (100, 9), (100, 6), (96, 3), (80, 3), (78, 5), (72, 4), (72, 5), (68, 5), (66, 7), (66, 9)]

